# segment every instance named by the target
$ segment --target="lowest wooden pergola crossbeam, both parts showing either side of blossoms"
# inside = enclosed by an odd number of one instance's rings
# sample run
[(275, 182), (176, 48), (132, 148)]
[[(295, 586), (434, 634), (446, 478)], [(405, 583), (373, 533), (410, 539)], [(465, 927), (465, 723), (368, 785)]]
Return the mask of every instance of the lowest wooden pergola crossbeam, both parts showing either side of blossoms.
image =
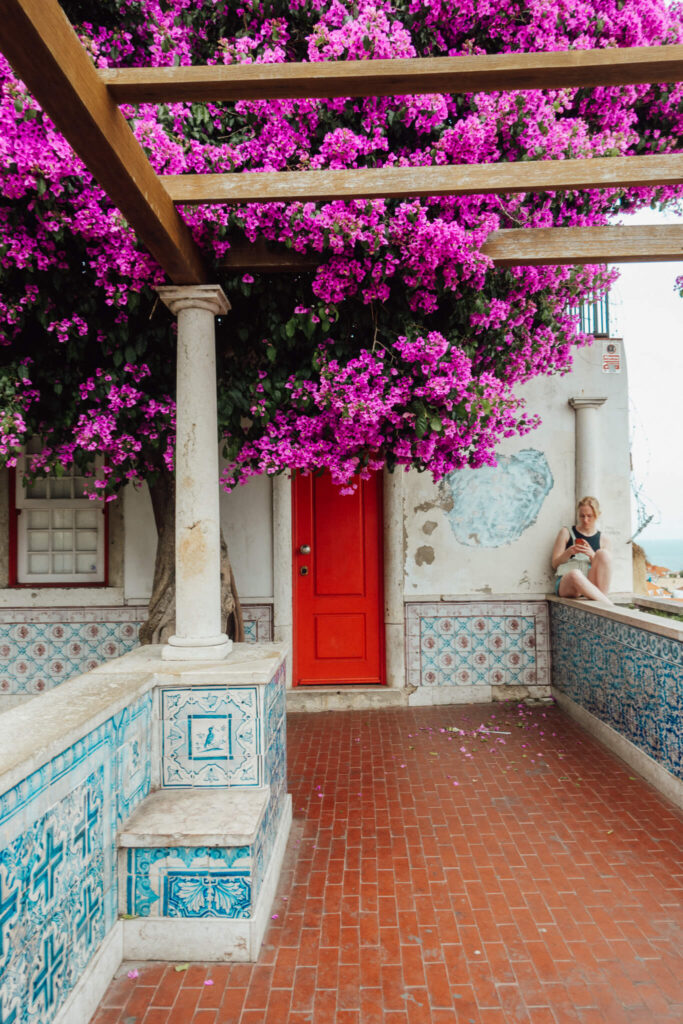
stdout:
[[(680, 224), (608, 225), (605, 227), (519, 227), (492, 231), (481, 251), (497, 266), (560, 263), (649, 263), (683, 260)], [(234, 241), (221, 260), (227, 270), (301, 273), (326, 259), (297, 253), (263, 239)]]

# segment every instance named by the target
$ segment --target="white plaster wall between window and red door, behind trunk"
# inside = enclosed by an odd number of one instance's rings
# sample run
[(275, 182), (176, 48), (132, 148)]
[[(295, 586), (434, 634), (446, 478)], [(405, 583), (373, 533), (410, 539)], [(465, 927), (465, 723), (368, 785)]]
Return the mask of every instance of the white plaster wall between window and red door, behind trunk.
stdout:
[[(146, 601), (152, 593), (157, 530), (146, 486), (124, 490), (125, 599)], [(220, 494), (220, 520), (243, 601), (272, 597), (272, 483), (253, 477), (231, 494)]]

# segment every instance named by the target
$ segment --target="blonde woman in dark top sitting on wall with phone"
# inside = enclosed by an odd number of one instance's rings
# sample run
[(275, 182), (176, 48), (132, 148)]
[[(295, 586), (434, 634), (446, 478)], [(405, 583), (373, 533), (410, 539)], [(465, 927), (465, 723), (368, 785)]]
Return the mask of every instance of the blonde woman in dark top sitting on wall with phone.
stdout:
[(557, 573), (555, 593), (560, 597), (587, 597), (612, 602), (607, 597), (611, 555), (609, 541), (597, 527), (600, 505), (596, 498), (582, 498), (577, 525), (562, 526), (553, 547), (552, 565)]

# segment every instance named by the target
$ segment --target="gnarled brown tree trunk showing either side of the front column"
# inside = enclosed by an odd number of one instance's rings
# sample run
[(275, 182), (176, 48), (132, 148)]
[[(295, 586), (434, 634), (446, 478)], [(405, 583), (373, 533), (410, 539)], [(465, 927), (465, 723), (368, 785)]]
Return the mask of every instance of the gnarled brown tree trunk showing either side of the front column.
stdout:
[[(146, 622), (140, 627), (140, 643), (166, 643), (175, 632), (175, 479), (160, 473), (150, 484), (157, 524), (157, 559)], [(220, 535), (221, 625), (237, 642), (245, 638), (242, 606), (234, 583), (227, 544)]]

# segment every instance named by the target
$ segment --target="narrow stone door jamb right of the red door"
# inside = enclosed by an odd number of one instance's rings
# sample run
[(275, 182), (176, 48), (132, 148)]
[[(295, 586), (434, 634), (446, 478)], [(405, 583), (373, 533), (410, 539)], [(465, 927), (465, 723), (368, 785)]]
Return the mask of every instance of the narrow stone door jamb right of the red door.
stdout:
[(384, 471), (384, 636), (387, 686), (405, 686), (403, 470)]

